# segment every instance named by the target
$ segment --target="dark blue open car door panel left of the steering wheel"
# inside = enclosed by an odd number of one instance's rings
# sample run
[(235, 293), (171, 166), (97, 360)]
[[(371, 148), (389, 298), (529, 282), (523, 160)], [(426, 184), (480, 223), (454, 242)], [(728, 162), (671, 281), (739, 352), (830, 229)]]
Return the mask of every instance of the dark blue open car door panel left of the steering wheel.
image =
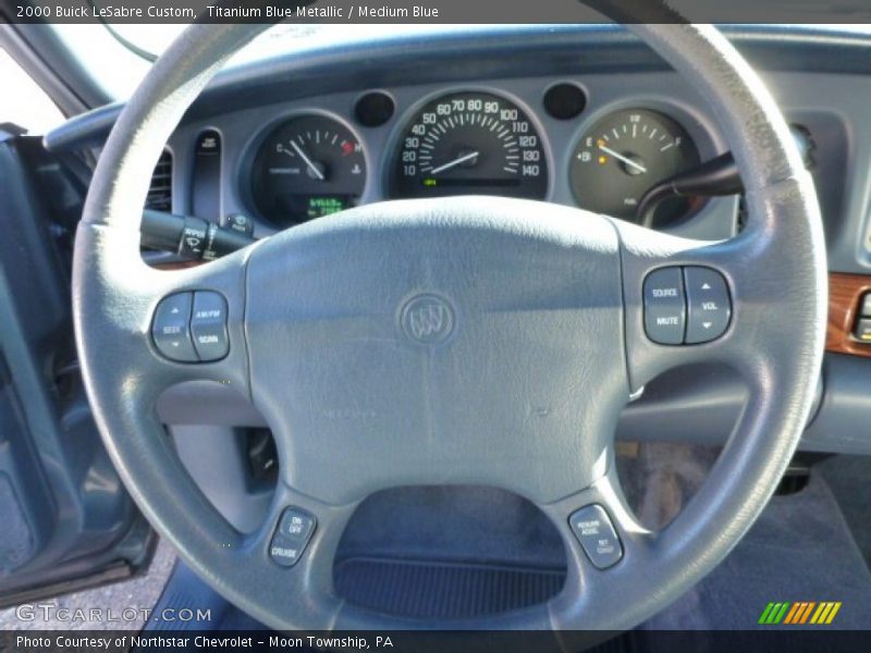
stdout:
[(76, 361), (69, 255), (88, 174), (0, 136), (0, 605), (128, 576), (154, 544)]

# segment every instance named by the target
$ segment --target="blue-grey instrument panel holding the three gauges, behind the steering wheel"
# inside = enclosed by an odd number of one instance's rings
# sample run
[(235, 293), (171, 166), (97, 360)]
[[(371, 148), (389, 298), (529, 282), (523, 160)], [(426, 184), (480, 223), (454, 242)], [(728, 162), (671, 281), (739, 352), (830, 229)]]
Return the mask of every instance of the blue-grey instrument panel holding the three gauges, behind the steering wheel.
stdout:
[[(446, 195), (636, 220), (657, 182), (727, 149), (702, 99), (664, 72), (381, 85), (185, 124), (170, 148), (175, 212), (244, 214), (258, 237), (360, 204)], [(736, 197), (674, 199), (655, 226), (713, 239), (737, 220)]]

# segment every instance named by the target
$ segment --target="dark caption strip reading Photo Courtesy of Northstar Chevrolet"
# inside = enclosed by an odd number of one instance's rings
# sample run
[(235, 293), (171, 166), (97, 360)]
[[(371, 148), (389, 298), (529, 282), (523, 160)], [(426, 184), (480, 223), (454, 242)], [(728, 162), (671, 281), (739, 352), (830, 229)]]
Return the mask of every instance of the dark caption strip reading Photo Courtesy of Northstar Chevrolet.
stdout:
[(591, 651), (641, 653), (855, 653), (868, 649), (871, 631), (832, 630), (826, 626), (775, 626), (734, 631), (529, 632), (529, 631), (335, 631), (270, 630), (7, 630), (0, 650), (8, 653), (295, 653), (300, 651), (383, 651), (389, 653), (538, 653)]

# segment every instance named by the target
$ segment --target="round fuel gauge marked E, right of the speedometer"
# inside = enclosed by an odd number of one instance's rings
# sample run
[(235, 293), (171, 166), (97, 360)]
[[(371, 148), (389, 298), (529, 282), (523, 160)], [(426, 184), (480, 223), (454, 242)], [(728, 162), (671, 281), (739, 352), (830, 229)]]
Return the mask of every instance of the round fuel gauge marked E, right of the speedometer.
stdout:
[[(569, 183), (582, 208), (634, 220), (646, 190), (698, 163), (699, 152), (684, 127), (655, 111), (626, 109), (604, 116), (581, 136)], [(686, 199), (665, 201), (655, 222), (679, 218), (688, 208)]]

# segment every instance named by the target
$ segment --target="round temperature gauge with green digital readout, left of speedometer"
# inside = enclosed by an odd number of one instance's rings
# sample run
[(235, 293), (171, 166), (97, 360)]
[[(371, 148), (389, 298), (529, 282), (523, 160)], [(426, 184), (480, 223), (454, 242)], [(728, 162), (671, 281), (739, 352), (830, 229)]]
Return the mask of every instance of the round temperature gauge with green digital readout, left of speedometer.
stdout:
[(352, 207), (365, 185), (359, 140), (326, 115), (299, 115), (282, 123), (266, 138), (254, 162), (257, 208), (282, 226)]

